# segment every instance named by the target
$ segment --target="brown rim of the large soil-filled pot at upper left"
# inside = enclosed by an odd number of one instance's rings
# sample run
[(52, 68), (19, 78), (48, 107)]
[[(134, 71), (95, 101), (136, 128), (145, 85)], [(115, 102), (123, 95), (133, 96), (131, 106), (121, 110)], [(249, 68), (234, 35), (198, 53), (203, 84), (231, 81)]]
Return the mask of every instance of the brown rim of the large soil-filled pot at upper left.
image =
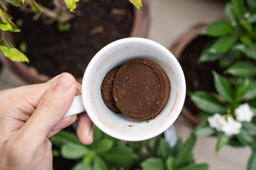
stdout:
[[(6, 5), (7, 7), (10, 7), (9, 4), (6, 4)], [(148, 30), (148, 23), (149, 23), (148, 0), (143, 0), (143, 8), (141, 8), (140, 10), (135, 7), (133, 8), (134, 8), (134, 18), (133, 18), (133, 24), (131, 27), (131, 32), (129, 37), (145, 37)], [(12, 43), (14, 43), (14, 37), (11, 32), (7, 32), (7, 37), (9, 38), (9, 40), (11, 40)], [(15, 46), (17, 47), (17, 45)], [(29, 82), (31, 84), (42, 83), (50, 79), (50, 77), (47, 75), (38, 74), (31, 71), (31, 69), (29, 69), (29, 66), (26, 63), (11, 61), (10, 59), (3, 56), (2, 53), (0, 53), (0, 59), (3, 60), (4, 64), (8, 65), (9, 68), (12, 69), (12, 71), (14, 71), (19, 77), (24, 79), (26, 82)], [(80, 63), (76, 63), (76, 64), (80, 64)], [(73, 64), (73, 67), (76, 67), (76, 64)], [(86, 66), (87, 65), (84, 65), (85, 68)], [(39, 70), (39, 73), (40, 73), (40, 70)], [(76, 79), (78, 82), (81, 83), (82, 77), (76, 77)]]

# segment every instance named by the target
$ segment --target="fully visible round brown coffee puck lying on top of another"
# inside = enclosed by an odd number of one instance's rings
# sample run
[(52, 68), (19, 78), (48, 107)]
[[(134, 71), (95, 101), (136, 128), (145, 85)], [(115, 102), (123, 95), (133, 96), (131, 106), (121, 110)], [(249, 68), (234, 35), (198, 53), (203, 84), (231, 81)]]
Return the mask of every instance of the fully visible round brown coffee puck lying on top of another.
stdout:
[(127, 117), (154, 119), (165, 107), (170, 89), (169, 78), (159, 65), (147, 59), (134, 59), (116, 73), (113, 98)]

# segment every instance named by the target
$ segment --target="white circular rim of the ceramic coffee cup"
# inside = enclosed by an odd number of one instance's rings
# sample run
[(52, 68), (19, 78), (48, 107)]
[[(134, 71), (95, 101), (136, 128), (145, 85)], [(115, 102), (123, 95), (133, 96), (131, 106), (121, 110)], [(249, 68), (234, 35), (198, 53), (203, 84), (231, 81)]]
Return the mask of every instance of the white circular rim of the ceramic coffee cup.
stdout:
[[(155, 46), (157, 46), (157, 48), (160, 48), (160, 50), (163, 50), (165, 53), (168, 53), (170, 56), (172, 56), (172, 60), (173, 62), (175, 62), (175, 65), (177, 67), (177, 72), (180, 73), (180, 100), (179, 102), (176, 103), (176, 106), (177, 107), (177, 112), (178, 114), (176, 114), (175, 116), (172, 117), (171, 121), (169, 121), (168, 124), (166, 124), (165, 126), (162, 126), (161, 128), (159, 128), (159, 130), (157, 130), (156, 133), (149, 133), (148, 136), (146, 137), (142, 137), (142, 138), (139, 138), (139, 139), (131, 139), (131, 138), (126, 138), (126, 137), (123, 137), (123, 136), (119, 136), (117, 133), (109, 133), (108, 130), (106, 130), (105, 128), (102, 128), (100, 125), (99, 125), (99, 121), (94, 119), (93, 116), (90, 116), (92, 114), (92, 111), (91, 111), (91, 108), (90, 108), (90, 105), (89, 105), (89, 102), (85, 102), (87, 99), (85, 99), (85, 86), (86, 86), (86, 83), (88, 82), (88, 78), (90, 77), (90, 73), (91, 73), (91, 70), (93, 67), (95, 67), (95, 65), (97, 64), (97, 60), (104, 56), (102, 54), (104, 54), (106, 51), (108, 51), (108, 49), (110, 48), (113, 48), (114, 46), (118, 45), (118, 44), (121, 44), (123, 42), (132, 42), (132, 41), (136, 41), (136, 42), (144, 42), (144, 43), (150, 43), (150, 44), (153, 44)], [(90, 88), (87, 87), (87, 88)], [(83, 81), (82, 81), (82, 100), (83, 100), (83, 104), (84, 104), (84, 108), (87, 112), (87, 115), (90, 117), (91, 121), (100, 129), (102, 130), (104, 133), (116, 138), (116, 139), (120, 139), (120, 140), (125, 140), (125, 141), (142, 141), (142, 140), (147, 140), (147, 139), (150, 139), (150, 138), (153, 138), (154, 136), (157, 136), (158, 134), (160, 133), (163, 133), (166, 129), (168, 129), (174, 122), (175, 120), (177, 119), (177, 117), (180, 115), (180, 112), (183, 108), (183, 105), (184, 105), (184, 101), (185, 101), (185, 96), (186, 96), (186, 81), (185, 81), (185, 77), (184, 77), (184, 74), (183, 74), (183, 70), (179, 64), (179, 62), (177, 61), (177, 59), (175, 58), (175, 56), (167, 49), (165, 48), (163, 45), (160, 45), (159, 43), (157, 42), (154, 42), (152, 40), (148, 40), (148, 39), (145, 39), (145, 38), (139, 38), (139, 37), (129, 37), (129, 38), (123, 38), (123, 39), (120, 39), (120, 40), (116, 40), (114, 42), (111, 42), (110, 44), (106, 45), (105, 47), (103, 47), (100, 51), (98, 51), (95, 56), (91, 59), (91, 61), (89, 62), (89, 64), (87, 65), (87, 68), (84, 72), (84, 76), (83, 76)], [(91, 111), (91, 112), (90, 112)]]

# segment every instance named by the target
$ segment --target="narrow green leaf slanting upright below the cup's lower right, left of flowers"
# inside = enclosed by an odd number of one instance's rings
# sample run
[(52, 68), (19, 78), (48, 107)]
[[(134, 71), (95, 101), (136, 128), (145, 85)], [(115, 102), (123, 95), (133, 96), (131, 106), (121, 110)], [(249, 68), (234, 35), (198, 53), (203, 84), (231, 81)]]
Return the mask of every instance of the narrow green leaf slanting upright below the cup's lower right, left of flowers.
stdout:
[(194, 134), (191, 134), (189, 139), (183, 144), (177, 154), (177, 166), (183, 164), (189, 158), (189, 155), (192, 153), (192, 149), (195, 145), (196, 137)]

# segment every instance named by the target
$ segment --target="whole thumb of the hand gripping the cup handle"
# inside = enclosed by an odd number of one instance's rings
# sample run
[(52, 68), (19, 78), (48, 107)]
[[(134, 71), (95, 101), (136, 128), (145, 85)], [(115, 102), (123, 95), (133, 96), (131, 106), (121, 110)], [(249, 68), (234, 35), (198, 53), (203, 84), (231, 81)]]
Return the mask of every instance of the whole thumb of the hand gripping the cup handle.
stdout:
[[(44, 142), (50, 130), (69, 110), (76, 94), (76, 79), (63, 73), (39, 101), (35, 112), (22, 127), (25, 139)], [(39, 144), (38, 143), (38, 144)]]

